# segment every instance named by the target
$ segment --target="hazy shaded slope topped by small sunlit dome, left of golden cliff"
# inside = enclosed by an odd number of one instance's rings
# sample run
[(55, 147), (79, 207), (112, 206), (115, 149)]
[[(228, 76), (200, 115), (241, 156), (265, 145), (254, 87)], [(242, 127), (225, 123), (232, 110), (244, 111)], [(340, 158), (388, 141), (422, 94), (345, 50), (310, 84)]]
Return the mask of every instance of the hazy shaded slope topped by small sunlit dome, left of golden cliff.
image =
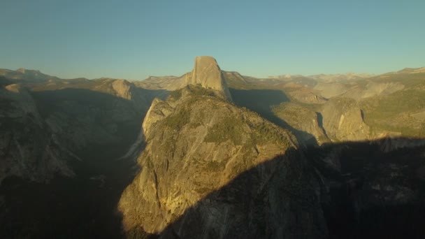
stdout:
[(32, 94), (47, 124), (75, 152), (129, 147), (153, 98), (127, 80), (107, 78), (47, 89), (34, 87)]

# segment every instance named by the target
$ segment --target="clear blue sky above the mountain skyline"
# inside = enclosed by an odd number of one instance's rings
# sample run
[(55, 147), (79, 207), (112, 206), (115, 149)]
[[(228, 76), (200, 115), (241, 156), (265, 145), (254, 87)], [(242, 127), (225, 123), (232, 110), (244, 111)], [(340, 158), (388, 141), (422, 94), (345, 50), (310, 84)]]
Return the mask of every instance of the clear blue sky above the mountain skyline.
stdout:
[(384, 73), (425, 66), (425, 1), (1, 0), (0, 68), (61, 78), (226, 71)]

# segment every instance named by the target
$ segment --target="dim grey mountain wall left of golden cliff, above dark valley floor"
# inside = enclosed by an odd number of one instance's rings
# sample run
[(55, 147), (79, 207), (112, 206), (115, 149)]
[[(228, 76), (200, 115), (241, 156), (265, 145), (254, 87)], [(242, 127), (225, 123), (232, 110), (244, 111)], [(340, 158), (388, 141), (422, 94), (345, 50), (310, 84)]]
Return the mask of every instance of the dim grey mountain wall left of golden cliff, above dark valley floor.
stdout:
[(55, 173), (74, 175), (69, 162), (92, 161), (99, 147), (123, 154), (152, 101), (127, 80), (2, 82), (0, 182), (10, 175), (43, 182)]

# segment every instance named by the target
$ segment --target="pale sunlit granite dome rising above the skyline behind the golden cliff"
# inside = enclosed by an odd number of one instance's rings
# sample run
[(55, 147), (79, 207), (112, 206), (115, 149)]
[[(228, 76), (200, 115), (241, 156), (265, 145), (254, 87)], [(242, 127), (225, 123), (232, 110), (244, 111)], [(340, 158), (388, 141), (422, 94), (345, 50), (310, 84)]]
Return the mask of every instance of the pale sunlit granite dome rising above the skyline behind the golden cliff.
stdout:
[(224, 99), (231, 100), (231, 94), (224, 81), (222, 70), (213, 57), (195, 57), (195, 65), (192, 75), (186, 78), (187, 85), (201, 85), (207, 89), (213, 89)]

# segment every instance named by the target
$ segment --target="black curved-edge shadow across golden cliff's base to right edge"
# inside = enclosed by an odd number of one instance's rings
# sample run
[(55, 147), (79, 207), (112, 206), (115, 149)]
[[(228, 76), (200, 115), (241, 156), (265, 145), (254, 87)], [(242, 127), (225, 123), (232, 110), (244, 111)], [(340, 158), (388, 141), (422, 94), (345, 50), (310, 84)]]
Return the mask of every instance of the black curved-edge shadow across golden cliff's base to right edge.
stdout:
[(241, 173), (158, 235), (143, 228), (127, 235), (425, 238), (424, 196), (425, 140), (327, 144), (288, 150)]

